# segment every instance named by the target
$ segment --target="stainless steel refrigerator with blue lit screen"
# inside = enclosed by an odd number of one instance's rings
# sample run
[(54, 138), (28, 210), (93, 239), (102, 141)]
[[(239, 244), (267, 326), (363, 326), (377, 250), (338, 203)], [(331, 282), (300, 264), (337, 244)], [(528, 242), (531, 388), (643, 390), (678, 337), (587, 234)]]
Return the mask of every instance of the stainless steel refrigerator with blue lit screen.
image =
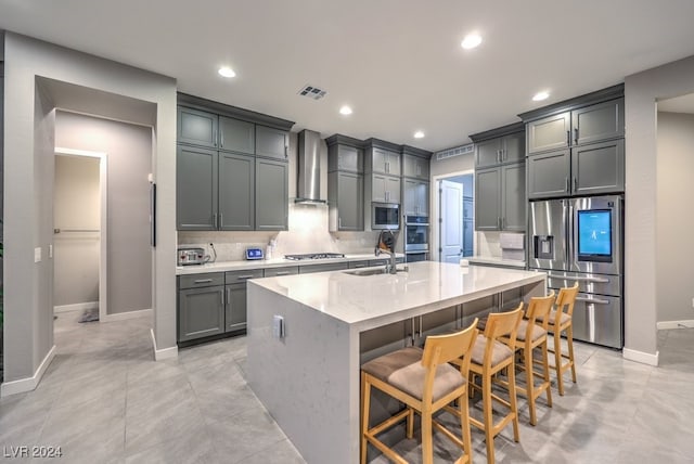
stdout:
[(529, 267), (548, 287), (579, 284), (574, 338), (624, 347), (624, 197), (530, 202)]

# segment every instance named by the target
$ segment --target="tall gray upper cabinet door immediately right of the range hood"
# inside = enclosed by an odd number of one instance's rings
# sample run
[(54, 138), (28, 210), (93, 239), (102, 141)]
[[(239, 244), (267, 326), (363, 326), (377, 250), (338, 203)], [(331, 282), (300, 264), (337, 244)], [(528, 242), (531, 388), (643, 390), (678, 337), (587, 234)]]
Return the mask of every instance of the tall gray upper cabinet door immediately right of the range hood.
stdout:
[(364, 230), (363, 179), (362, 175), (356, 172), (329, 172), (327, 204), (331, 232)]

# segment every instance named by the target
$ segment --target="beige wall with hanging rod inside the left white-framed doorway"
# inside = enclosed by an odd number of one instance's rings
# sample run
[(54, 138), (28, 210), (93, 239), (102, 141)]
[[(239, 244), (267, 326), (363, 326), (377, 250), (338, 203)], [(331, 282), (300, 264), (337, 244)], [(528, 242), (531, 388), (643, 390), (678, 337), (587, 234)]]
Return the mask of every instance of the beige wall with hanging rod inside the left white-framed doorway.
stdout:
[[(59, 113), (56, 127), (60, 119)], [(101, 227), (99, 163), (87, 156), (55, 156), (53, 224), (62, 232), (53, 235), (54, 307), (99, 301), (99, 232), (69, 232)]]

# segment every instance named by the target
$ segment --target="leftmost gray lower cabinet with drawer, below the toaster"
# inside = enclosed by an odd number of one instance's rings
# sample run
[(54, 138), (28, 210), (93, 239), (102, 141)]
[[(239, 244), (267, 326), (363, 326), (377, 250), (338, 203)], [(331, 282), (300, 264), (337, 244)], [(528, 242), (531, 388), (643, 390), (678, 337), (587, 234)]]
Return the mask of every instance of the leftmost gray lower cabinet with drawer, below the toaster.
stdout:
[(224, 279), (221, 272), (178, 278), (178, 340), (224, 332)]

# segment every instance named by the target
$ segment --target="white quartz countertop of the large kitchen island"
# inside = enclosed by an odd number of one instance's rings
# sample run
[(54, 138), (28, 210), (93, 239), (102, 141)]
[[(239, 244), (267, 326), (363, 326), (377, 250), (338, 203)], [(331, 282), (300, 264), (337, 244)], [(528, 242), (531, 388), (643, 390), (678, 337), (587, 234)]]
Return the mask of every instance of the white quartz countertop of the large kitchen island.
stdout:
[(434, 261), (408, 267), (408, 272), (397, 274), (364, 276), (334, 271), (260, 279), (248, 285), (259, 285), (368, 330), (545, 280), (542, 272), (515, 269)]

